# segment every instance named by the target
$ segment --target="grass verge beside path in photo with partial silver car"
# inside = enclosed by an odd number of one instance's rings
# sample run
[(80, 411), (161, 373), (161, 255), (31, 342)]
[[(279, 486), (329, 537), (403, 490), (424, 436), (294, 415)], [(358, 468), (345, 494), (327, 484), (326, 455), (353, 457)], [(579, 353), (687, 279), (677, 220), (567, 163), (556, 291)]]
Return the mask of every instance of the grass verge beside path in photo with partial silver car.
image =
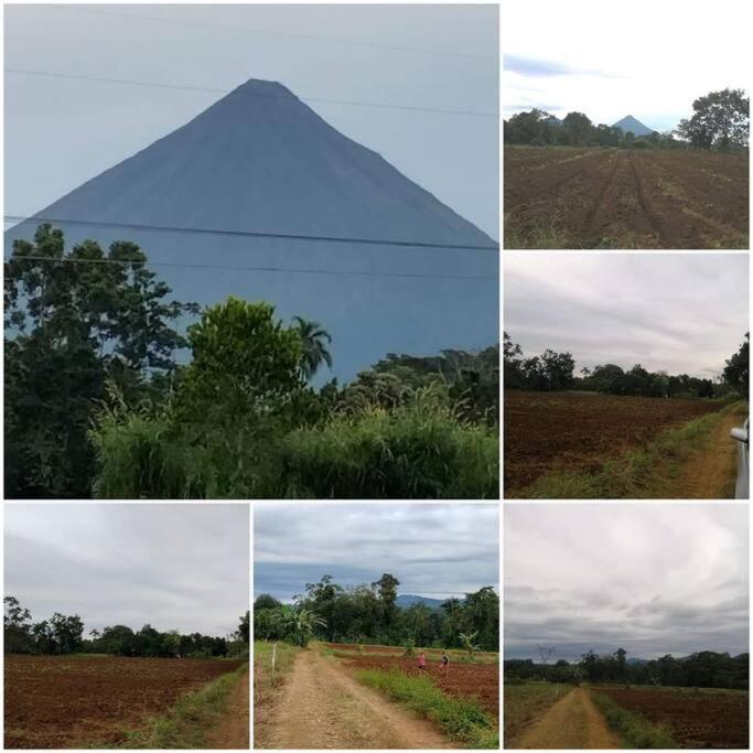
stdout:
[(682, 463), (702, 448), (711, 432), (727, 418), (739, 416), (742, 423), (746, 413), (746, 402), (733, 402), (717, 412), (663, 432), (642, 448), (605, 461), (595, 473), (548, 473), (516, 495), (516, 498), (671, 498), (668, 481), (679, 473)]

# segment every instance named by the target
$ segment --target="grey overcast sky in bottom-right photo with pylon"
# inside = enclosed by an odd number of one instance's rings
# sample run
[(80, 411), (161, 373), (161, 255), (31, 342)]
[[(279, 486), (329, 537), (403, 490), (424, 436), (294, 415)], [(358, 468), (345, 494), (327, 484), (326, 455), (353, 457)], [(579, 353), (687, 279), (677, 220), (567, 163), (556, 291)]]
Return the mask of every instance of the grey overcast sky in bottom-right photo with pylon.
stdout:
[(747, 652), (747, 506), (507, 505), (505, 657)]

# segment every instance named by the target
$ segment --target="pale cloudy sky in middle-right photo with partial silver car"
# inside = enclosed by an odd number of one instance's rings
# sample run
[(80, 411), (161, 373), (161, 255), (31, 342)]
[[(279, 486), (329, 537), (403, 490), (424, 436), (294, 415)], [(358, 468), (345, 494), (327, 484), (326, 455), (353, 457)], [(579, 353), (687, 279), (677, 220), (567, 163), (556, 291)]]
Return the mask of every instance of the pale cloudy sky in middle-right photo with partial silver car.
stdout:
[(505, 332), (527, 356), (713, 378), (749, 329), (746, 254), (504, 255)]

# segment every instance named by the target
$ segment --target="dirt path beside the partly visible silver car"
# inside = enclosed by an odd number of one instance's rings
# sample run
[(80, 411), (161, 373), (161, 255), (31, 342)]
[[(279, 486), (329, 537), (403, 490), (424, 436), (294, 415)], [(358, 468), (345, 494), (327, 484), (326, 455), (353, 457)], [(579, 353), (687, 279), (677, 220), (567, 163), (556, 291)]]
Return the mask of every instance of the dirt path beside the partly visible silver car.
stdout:
[(738, 467), (738, 445), (730, 437), (745, 420), (742, 409), (731, 410), (709, 434), (703, 445), (682, 464), (671, 480), (668, 498), (732, 499)]

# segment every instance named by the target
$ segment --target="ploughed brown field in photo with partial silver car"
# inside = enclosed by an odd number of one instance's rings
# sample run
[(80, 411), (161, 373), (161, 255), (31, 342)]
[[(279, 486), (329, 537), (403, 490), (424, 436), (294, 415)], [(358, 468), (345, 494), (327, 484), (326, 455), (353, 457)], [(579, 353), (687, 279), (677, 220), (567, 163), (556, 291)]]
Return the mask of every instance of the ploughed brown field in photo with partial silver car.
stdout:
[(506, 390), (505, 495), (555, 470), (590, 472), (660, 431), (723, 408), (708, 400), (664, 400), (591, 392)]

